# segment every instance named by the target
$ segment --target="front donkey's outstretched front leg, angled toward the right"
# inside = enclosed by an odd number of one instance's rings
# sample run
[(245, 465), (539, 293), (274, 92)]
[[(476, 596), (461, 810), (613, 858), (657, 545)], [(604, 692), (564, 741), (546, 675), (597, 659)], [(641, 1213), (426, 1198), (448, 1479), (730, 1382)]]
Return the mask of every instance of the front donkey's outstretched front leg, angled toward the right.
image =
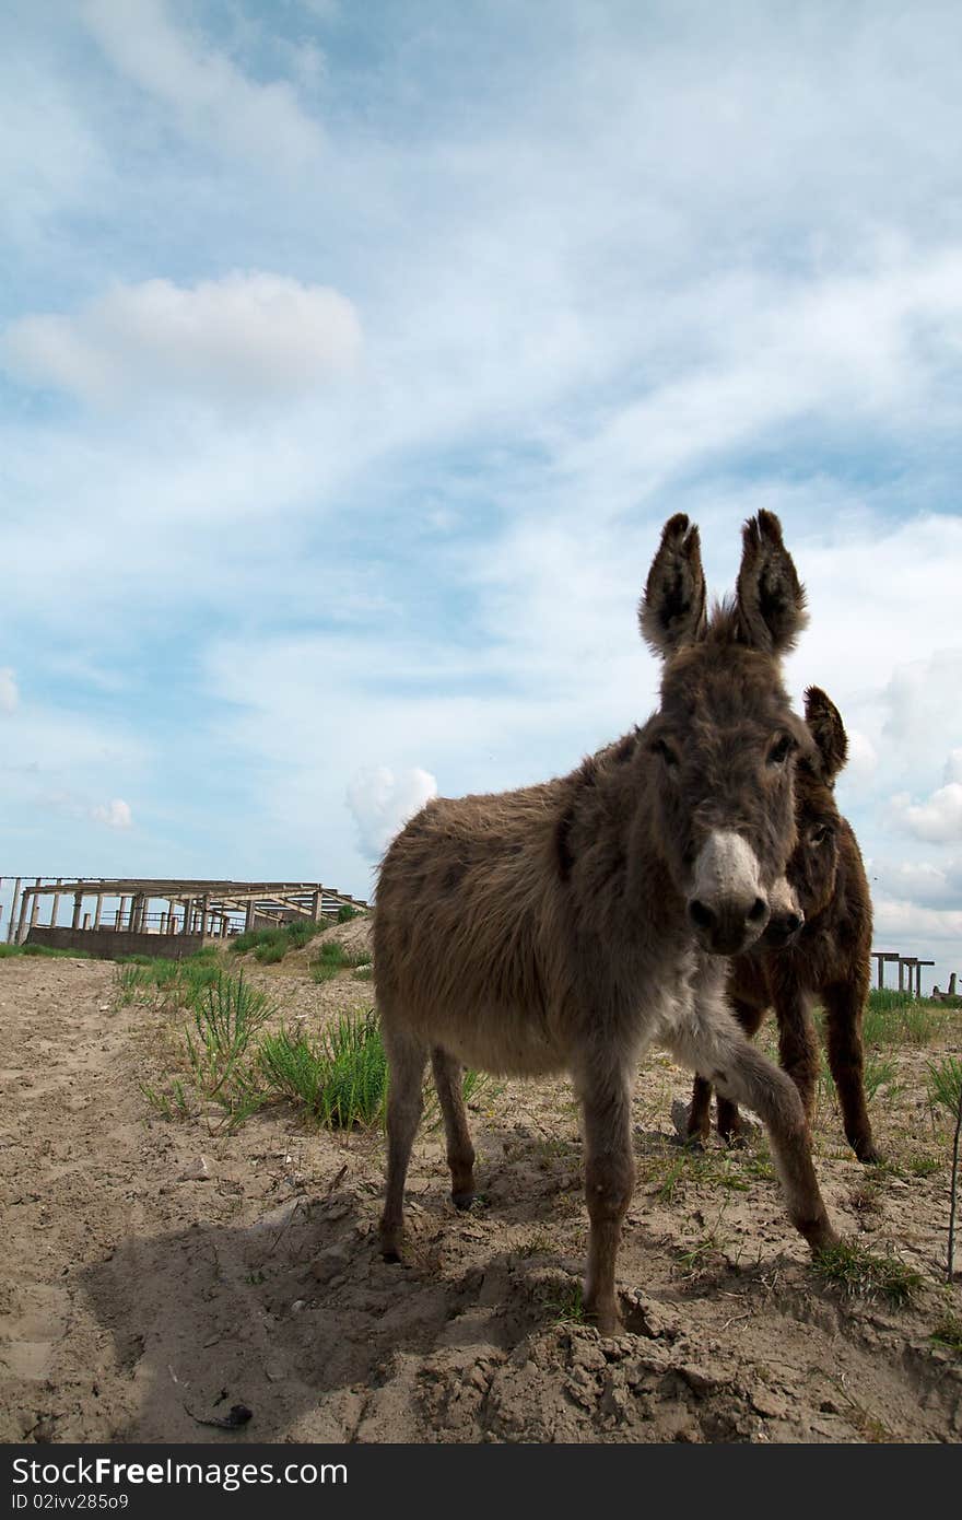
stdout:
[(837, 1240), (812, 1164), (812, 1138), (795, 1082), (748, 1043), (723, 1008), (699, 1011), (673, 1029), (666, 1044), (684, 1066), (708, 1072), (723, 1097), (745, 1104), (763, 1120), (789, 1218), (812, 1249)]

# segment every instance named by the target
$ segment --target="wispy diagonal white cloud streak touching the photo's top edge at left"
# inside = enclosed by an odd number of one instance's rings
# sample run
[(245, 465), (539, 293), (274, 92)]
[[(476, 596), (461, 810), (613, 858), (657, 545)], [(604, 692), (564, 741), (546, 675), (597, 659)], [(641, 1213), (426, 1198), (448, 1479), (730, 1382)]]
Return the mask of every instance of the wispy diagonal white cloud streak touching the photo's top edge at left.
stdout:
[(324, 149), (319, 125), (289, 84), (257, 84), (163, 0), (87, 0), (84, 18), (114, 67), (172, 114), (181, 131), (271, 172), (304, 172)]

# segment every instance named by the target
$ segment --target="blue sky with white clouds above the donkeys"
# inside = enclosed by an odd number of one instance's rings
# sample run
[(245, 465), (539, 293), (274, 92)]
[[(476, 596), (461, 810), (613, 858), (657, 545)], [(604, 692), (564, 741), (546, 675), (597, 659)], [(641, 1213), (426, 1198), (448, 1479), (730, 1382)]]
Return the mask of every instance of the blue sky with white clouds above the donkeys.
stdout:
[(951, 0), (8, 3), (5, 879), (369, 897), (767, 508), (875, 945), (962, 973), (960, 70)]

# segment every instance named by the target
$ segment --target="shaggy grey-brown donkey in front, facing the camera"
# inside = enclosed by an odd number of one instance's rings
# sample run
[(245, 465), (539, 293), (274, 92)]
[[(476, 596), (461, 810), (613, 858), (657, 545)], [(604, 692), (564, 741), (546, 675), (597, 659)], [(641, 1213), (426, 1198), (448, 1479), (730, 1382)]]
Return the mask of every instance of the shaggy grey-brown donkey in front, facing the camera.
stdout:
[(543, 786), (429, 803), (384, 854), (374, 917), (391, 1061), (384, 1257), (401, 1248), (429, 1053), (459, 1207), (474, 1193), (462, 1062), (567, 1070), (584, 1108), (585, 1309), (603, 1333), (619, 1324), (631, 1096), (652, 1041), (763, 1116), (792, 1222), (813, 1249), (834, 1240), (795, 1084), (723, 996), (726, 958), (764, 930), (784, 886), (795, 765), (812, 749), (780, 676), (804, 591), (778, 518), (746, 523), (737, 594), (708, 617), (698, 529), (673, 517), (640, 619), (664, 658), (644, 728)]

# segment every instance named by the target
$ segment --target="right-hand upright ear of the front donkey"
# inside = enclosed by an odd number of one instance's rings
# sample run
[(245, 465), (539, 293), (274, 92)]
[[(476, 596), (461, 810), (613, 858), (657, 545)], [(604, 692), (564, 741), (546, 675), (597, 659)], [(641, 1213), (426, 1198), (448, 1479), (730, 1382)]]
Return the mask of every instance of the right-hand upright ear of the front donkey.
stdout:
[(781, 523), (774, 512), (749, 517), (742, 529), (739, 570), (739, 628), (746, 644), (763, 654), (783, 655), (809, 622), (805, 588), (792, 555), (781, 541)]

